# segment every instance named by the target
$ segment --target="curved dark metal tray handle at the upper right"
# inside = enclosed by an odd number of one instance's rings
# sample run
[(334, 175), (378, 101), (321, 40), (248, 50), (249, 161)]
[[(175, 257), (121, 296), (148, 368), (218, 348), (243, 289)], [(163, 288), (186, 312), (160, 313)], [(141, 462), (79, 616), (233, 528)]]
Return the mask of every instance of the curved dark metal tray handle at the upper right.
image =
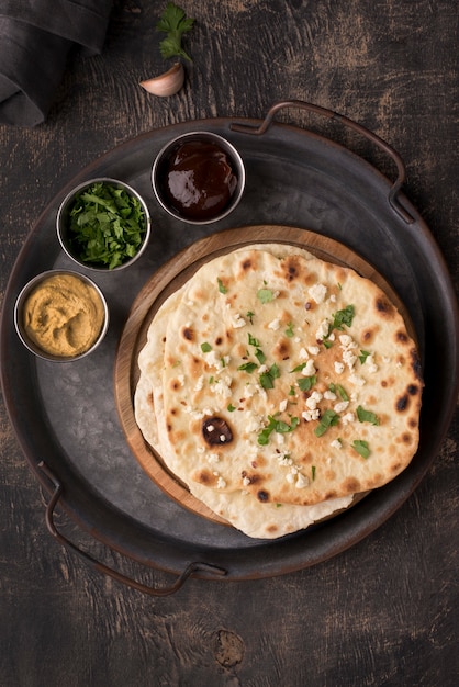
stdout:
[(284, 110), (288, 108), (298, 108), (300, 110), (307, 110), (309, 112), (315, 112), (316, 114), (321, 114), (327, 117), (328, 120), (336, 120), (340, 122), (342, 124), (344, 124), (345, 126), (352, 128), (357, 133), (361, 134), (362, 136), (371, 140), (371, 143), (376, 144), (381, 150), (383, 150), (383, 153), (385, 153), (390, 158), (392, 158), (398, 169), (398, 177), (389, 190), (389, 195), (388, 195), (389, 203), (391, 207), (394, 210), (394, 212), (396, 212), (396, 214), (400, 215), (404, 219), (404, 222), (406, 222), (406, 224), (413, 224), (413, 222), (415, 222), (415, 217), (413, 217), (410, 214), (410, 212), (402, 205), (400, 198), (399, 198), (400, 190), (406, 178), (405, 165), (402, 158), (400, 157), (400, 155), (393, 148), (391, 148), (391, 146), (387, 144), (385, 140), (377, 136), (377, 134), (373, 134), (373, 132), (370, 132), (368, 128), (366, 128), (361, 124), (357, 124), (357, 122), (349, 120), (343, 114), (338, 114), (337, 112), (334, 112), (333, 110), (327, 110), (326, 108), (322, 108), (321, 105), (315, 105), (313, 103), (304, 102), (302, 100), (283, 100), (283, 101), (275, 103), (270, 108), (265, 120), (259, 126), (247, 124), (247, 123), (233, 122), (229, 125), (229, 128), (234, 132), (239, 132), (243, 134), (254, 134), (256, 136), (260, 136), (269, 128), (269, 126), (271, 125), (279, 110)]

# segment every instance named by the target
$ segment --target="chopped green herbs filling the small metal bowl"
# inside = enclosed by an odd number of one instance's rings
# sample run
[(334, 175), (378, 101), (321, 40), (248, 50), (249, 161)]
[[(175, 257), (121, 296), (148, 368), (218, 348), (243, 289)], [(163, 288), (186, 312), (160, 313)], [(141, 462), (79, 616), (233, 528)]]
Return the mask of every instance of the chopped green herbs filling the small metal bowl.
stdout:
[(136, 255), (145, 232), (139, 200), (108, 182), (77, 193), (69, 209), (70, 249), (82, 262), (119, 267)]

